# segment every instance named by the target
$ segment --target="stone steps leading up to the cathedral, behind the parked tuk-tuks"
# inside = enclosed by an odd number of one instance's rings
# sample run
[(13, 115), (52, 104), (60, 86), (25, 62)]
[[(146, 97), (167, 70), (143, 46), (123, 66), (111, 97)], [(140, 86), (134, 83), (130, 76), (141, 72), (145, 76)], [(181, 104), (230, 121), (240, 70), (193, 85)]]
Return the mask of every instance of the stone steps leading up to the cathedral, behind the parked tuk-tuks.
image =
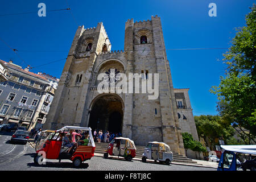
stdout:
[[(95, 143), (95, 153), (98, 154), (104, 154), (106, 148), (108, 148), (109, 143)], [(142, 158), (142, 154), (144, 152), (144, 146), (136, 146), (136, 157), (135, 158)], [(197, 164), (196, 161), (193, 161), (192, 159), (187, 158), (187, 156), (183, 156), (178, 154), (177, 152), (173, 152), (174, 160), (173, 162), (177, 163), (190, 163), (190, 164)]]

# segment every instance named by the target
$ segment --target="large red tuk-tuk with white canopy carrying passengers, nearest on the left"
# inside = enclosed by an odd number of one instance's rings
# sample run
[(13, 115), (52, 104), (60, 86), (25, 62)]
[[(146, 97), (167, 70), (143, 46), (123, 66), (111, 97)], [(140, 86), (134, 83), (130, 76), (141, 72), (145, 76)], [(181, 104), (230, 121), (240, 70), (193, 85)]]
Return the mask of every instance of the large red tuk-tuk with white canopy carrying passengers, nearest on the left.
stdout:
[[(74, 146), (72, 150), (67, 153), (68, 147), (63, 146), (63, 139), (67, 131), (80, 130), (89, 134), (89, 142), (87, 146)], [(43, 159), (69, 159), (72, 160), (74, 167), (79, 167), (82, 162), (88, 160), (94, 156), (95, 144), (92, 136), (92, 129), (90, 127), (77, 127), (77, 126), (64, 126), (60, 130), (56, 130), (54, 133), (47, 135), (41, 144), (38, 144), (36, 148), (36, 155), (34, 162), (36, 164), (42, 164)]]

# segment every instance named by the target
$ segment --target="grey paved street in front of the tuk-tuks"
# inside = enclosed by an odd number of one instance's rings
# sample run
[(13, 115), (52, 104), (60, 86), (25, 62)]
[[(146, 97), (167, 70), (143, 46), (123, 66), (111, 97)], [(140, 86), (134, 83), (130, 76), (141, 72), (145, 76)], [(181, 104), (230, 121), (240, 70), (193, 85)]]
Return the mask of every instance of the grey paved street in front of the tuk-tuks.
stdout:
[(142, 163), (138, 160), (127, 162), (120, 159), (104, 159), (101, 156), (94, 156), (87, 160), (81, 168), (73, 168), (70, 160), (46, 160), (43, 166), (36, 166), (33, 162), (34, 148), (28, 143), (11, 144), (12, 133), (0, 131), (0, 170), (17, 171), (65, 171), (65, 170), (86, 170), (86, 171), (216, 171), (214, 168), (183, 166), (171, 164), (166, 166), (159, 163)]

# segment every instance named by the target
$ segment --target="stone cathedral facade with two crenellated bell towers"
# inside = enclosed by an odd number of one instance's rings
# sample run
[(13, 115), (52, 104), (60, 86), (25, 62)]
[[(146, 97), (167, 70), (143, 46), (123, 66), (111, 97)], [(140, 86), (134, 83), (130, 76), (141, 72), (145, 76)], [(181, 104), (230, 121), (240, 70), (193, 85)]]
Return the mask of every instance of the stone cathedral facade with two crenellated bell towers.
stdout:
[[(138, 73), (141, 79), (147, 79), (148, 73), (158, 73), (159, 97), (148, 100), (148, 93), (99, 93), (98, 75), (110, 74), (113, 69), (115, 74), (127, 77)], [(177, 112), (162, 24), (156, 15), (143, 22), (127, 20), (123, 51), (111, 51), (102, 23), (96, 28), (79, 26), (44, 129), (73, 125), (120, 131), (135, 144), (165, 142), (184, 155)]]

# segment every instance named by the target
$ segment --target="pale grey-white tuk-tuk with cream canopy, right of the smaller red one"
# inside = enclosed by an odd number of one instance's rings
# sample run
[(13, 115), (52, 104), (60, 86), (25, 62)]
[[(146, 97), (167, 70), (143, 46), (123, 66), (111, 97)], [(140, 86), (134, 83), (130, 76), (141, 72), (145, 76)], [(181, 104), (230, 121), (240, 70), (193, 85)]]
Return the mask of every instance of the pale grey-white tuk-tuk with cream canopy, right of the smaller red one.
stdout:
[(155, 162), (159, 160), (159, 162), (164, 162), (167, 165), (170, 165), (172, 160), (174, 160), (171, 148), (163, 142), (147, 143), (142, 154), (142, 162), (146, 163), (147, 159), (155, 160)]

